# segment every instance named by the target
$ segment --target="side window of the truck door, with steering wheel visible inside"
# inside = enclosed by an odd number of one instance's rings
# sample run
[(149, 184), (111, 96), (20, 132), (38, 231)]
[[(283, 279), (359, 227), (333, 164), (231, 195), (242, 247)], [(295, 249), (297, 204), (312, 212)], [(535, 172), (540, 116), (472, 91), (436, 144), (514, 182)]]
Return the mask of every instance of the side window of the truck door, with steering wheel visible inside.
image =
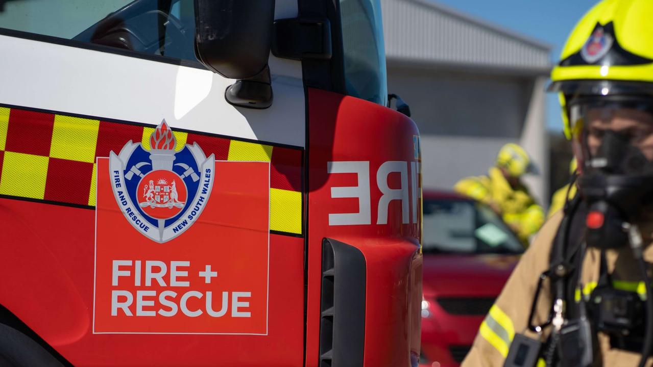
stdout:
[(0, 6), (0, 28), (197, 60), (193, 0), (15, 0)]

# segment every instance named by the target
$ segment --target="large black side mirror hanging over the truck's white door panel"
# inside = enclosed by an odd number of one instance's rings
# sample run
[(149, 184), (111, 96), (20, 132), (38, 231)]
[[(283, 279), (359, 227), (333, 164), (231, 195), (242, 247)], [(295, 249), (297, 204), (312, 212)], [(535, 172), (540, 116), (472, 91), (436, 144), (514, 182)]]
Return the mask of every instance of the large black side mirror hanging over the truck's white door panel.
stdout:
[(274, 0), (195, 0), (195, 55), (209, 70), (238, 80), (225, 93), (231, 104), (272, 104), (273, 22)]

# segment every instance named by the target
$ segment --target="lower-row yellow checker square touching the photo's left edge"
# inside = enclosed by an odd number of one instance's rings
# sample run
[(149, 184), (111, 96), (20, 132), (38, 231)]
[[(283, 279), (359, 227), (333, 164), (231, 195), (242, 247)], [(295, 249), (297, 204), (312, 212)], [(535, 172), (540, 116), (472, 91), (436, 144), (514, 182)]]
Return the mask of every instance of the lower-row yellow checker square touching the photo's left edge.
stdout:
[(46, 156), (5, 152), (0, 177), (0, 194), (42, 199), (48, 177)]

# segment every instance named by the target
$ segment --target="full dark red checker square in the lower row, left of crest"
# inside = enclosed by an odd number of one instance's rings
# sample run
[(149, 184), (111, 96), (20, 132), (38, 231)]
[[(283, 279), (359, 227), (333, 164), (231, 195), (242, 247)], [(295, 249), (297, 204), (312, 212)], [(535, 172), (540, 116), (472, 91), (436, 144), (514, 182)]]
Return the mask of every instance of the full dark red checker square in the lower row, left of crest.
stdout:
[(44, 199), (88, 205), (93, 164), (50, 158)]

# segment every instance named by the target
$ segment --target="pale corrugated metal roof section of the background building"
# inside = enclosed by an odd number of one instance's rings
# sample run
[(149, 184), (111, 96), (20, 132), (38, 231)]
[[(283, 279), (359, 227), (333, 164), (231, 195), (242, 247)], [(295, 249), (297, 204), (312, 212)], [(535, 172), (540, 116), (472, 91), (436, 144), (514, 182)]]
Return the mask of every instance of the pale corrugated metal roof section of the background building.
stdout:
[(392, 63), (545, 73), (551, 47), (430, 0), (381, 0)]

